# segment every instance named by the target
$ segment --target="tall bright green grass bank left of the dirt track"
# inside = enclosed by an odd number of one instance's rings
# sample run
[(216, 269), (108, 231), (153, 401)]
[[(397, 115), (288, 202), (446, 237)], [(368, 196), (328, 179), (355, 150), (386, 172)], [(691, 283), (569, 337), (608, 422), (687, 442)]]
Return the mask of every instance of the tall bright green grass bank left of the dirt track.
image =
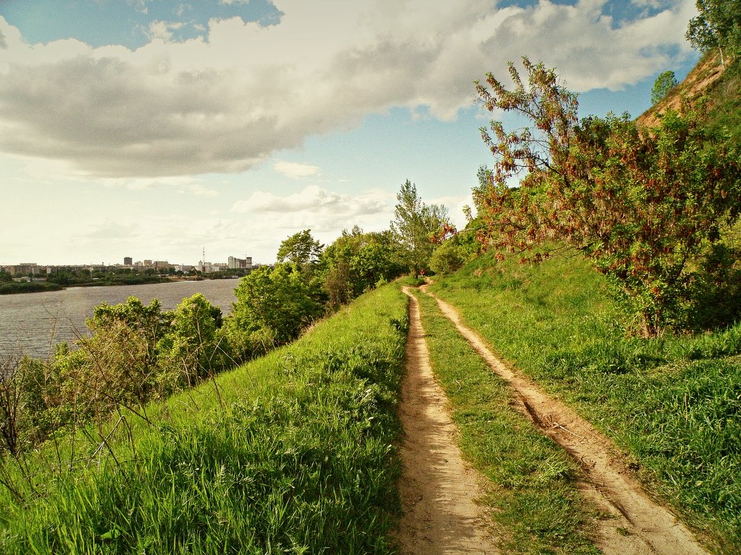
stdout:
[(406, 326), (386, 286), (149, 423), (122, 412), (4, 460), (0, 553), (395, 552)]

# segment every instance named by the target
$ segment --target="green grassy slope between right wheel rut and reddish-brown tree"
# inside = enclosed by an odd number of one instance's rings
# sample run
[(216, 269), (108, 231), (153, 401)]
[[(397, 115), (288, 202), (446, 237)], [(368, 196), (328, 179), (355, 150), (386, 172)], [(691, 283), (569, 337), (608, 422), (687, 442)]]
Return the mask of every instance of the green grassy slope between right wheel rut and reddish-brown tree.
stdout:
[(612, 437), (719, 554), (741, 553), (741, 325), (625, 338), (578, 258), (479, 258), (433, 286), (505, 359)]

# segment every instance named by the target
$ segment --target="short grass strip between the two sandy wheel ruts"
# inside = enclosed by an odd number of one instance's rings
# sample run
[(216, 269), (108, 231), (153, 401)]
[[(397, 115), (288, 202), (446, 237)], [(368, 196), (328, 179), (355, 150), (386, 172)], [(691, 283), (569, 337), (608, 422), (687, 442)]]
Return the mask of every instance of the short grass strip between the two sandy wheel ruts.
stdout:
[(417, 295), (431, 363), (453, 406), (465, 457), (491, 482), (485, 506), (502, 553), (598, 554), (594, 511), (574, 485), (574, 462), (511, 406), (496, 377), (428, 295)]

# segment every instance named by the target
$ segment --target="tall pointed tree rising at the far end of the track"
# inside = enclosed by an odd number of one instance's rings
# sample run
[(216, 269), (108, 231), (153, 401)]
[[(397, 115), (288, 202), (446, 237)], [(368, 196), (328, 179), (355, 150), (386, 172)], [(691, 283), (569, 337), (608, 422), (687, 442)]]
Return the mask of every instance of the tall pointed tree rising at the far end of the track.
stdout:
[(448, 224), (448, 209), (438, 204), (426, 205), (409, 180), (396, 193), (396, 200), (399, 202), (393, 213), (391, 232), (402, 246), (409, 272), (417, 277), (428, 268), (435, 249), (433, 235)]

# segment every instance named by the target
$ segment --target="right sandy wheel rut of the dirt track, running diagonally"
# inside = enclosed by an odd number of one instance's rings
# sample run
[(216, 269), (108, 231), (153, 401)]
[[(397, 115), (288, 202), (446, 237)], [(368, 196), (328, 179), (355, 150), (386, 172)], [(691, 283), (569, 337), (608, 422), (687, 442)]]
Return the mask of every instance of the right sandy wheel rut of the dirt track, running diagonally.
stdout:
[(580, 485), (582, 493), (611, 515), (598, 523), (595, 538), (605, 555), (707, 555), (687, 528), (666, 508), (649, 499), (631, 479), (610, 440), (528, 378), (508, 369), (478, 334), (463, 326), (451, 305), (436, 300), (473, 349), (514, 388), (522, 410), (579, 462), (585, 477)]

